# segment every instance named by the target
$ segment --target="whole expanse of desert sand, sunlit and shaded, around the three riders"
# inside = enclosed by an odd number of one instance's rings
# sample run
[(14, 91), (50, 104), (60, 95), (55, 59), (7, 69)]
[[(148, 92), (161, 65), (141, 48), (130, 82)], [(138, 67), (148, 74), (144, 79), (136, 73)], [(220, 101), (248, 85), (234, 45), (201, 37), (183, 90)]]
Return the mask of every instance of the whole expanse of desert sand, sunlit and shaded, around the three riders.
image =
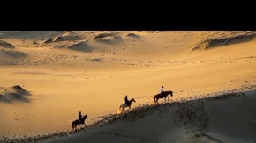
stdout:
[(2, 31), (0, 142), (255, 142), (255, 36)]

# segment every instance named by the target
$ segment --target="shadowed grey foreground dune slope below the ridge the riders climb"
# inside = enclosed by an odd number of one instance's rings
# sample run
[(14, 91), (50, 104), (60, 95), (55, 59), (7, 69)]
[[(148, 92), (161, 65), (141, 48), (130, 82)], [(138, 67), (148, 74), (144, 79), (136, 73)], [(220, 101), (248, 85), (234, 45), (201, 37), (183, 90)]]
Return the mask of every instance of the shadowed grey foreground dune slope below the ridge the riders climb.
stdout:
[(142, 104), (121, 115), (103, 116), (78, 132), (55, 132), (12, 141), (253, 142), (255, 93), (256, 90), (247, 90), (158, 106)]

